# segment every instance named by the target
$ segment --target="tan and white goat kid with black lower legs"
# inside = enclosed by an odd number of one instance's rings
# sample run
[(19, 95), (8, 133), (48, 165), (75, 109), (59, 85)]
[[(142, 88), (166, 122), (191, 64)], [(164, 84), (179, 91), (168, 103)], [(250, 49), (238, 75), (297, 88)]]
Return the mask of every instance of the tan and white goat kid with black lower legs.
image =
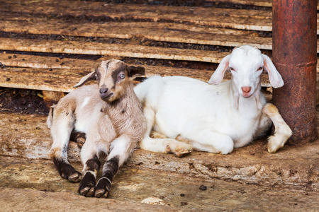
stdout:
[[(47, 118), (53, 139), (50, 156), (57, 171), (69, 182), (79, 182), (82, 178), (67, 160), (70, 134), (73, 129), (86, 134), (81, 151), (84, 177), (79, 184), (79, 194), (106, 198), (118, 167), (144, 136), (146, 119), (132, 81), (135, 76), (144, 74), (145, 69), (140, 66), (126, 66), (115, 59), (102, 61), (74, 87), (94, 78), (99, 86), (77, 88), (51, 107)], [(102, 176), (96, 183), (100, 160), (106, 155)]]

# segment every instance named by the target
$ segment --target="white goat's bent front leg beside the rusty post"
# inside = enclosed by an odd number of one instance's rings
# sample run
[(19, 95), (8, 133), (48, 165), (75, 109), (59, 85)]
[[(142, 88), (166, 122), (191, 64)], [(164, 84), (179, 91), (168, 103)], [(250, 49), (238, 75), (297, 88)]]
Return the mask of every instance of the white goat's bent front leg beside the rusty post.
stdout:
[(272, 123), (274, 123), (274, 135), (269, 136), (268, 138), (268, 152), (276, 153), (276, 151), (278, 151), (279, 148), (282, 148), (286, 141), (290, 138), (292, 131), (279, 114), (276, 106), (267, 103), (262, 108), (262, 113), (266, 114), (267, 117), (272, 120)]

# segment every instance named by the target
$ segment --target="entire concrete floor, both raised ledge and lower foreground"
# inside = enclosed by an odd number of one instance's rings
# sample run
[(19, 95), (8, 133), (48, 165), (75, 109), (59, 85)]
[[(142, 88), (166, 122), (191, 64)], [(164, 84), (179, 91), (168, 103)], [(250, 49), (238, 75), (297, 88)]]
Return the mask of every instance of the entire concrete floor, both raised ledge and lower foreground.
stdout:
[[(319, 211), (319, 140), (276, 154), (265, 139), (229, 155), (137, 150), (108, 199), (96, 199), (79, 196), (48, 160), (45, 119), (0, 113), (0, 211)], [(79, 151), (70, 142), (69, 160), (82, 170)], [(141, 203), (150, 197), (161, 205)]]

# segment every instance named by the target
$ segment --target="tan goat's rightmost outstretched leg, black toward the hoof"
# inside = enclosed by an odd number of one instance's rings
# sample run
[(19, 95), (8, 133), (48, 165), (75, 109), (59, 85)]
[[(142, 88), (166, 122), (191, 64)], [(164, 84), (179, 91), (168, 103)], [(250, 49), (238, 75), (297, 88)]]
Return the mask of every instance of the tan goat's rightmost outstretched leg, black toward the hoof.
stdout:
[(122, 135), (112, 141), (108, 160), (103, 165), (102, 176), (96, 184), (95, 197), (106, 198), (108, 196), (118, 168), (128, 159), (136, 144), (137, 143), (131, 141), (130, 136), (127, 135)]

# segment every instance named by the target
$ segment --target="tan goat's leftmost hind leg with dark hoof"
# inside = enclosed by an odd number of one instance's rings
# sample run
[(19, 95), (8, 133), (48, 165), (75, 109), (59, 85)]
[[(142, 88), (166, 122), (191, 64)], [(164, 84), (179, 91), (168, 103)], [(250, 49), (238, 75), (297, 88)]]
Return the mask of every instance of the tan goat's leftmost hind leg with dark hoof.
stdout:
[(74, 114), (70, 108), (60, 110), (60, 107), (55, 107), (53, 117), (51, 126), (53, 143), (50, 157), (63, 178), (68, 179), (69, 182), (79, 182), (82, 177), (81, 173), (75, 170), (67, 160), (67, 146), (74, 126)]

